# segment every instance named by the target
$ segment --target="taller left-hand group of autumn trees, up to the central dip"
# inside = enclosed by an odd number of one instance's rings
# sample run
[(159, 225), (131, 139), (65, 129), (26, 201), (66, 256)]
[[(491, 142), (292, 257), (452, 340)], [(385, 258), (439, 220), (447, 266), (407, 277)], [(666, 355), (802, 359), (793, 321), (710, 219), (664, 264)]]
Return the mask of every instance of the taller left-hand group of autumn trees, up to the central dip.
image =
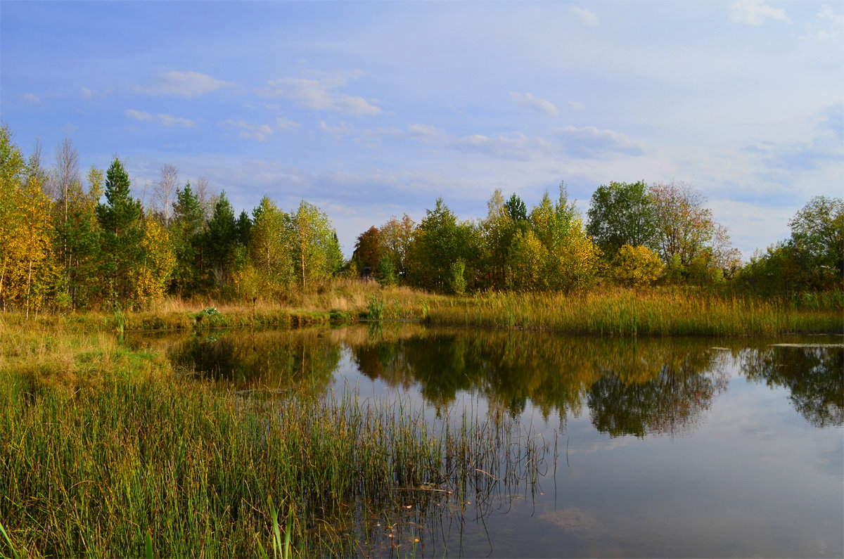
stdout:
[(82, 179), (68, 140), (47, 170), (0, 128), (0, 308), (30, 312), (143, 308), (170, 294), (289, 296), (343, 264), (327, 215), (304, 200), (289, 212), (263, 198), (235, 218), (207, 182), (178, 187), (162, 166), (153, 204), (133, 197), (122, 162)]

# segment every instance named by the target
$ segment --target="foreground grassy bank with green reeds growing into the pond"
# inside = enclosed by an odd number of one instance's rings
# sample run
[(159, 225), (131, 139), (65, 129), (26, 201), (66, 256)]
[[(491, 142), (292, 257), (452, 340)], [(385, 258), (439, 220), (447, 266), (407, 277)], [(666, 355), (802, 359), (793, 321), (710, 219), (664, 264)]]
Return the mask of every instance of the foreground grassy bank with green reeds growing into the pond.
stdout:
[(242, 399), (113, 334), (0, 325), (0, 340), (0, 556), (143, 556), (148, 539), (154, 556), (273, 555), (274, 539), (368, 555), (372, 518), (414, 555), (427, 523), (402, 535), (398, 515), (479, 500), (481, 470), (513, 486), (542, 464), (506, 418), (435, 428), (354, 393)]

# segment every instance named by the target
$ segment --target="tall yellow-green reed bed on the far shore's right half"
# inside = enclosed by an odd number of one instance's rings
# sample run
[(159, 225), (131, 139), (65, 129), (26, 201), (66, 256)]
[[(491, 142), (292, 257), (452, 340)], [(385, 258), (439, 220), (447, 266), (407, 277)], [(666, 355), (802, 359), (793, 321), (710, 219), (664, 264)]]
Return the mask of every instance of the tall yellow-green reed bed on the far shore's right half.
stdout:
[(696, 290), (614, 290), (576, 295), (493, 293), (430, 310), (432, 324), (599, 335), (757, 335), (844, 332), (844, 296), (806, 301)]

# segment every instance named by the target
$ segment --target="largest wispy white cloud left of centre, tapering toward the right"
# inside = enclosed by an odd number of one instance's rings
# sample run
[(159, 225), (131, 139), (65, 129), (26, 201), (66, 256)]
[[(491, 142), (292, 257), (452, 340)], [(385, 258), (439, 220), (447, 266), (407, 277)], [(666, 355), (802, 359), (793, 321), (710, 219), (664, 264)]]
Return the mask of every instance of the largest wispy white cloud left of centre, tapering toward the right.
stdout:
[(347, 83), (344, 78), (306, 79), (284, 78), (273, 79), (268, 87), (259, 90), (261, 95), (269, 97), (283, 97), (294, 100), (300, 106), (317, 111), (337, 111), (354, 117), (376, 115), (381, 108), (374, 105), (376, 100), (365, 100), (363, 97), (336, 93), (332, 90)]

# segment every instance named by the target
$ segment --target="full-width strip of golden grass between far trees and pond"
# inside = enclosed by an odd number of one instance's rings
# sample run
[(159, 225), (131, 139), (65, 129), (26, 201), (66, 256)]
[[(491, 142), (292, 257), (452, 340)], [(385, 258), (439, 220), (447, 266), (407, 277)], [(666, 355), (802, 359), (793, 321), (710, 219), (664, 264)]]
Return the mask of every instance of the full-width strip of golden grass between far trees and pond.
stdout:
[(458, 297), (372, 281), (336, 279), (284, 301), (160, 301), (144, 312), (0, 313), (19, 328), (79, 331), (299, 326), (415, 319), (444, 326), (519, 328), (598, 335), (755, 335), (844, 332), (844, 292), (791, 298), (727, 296), (695, 288), (591, 292), (490, 292)]

